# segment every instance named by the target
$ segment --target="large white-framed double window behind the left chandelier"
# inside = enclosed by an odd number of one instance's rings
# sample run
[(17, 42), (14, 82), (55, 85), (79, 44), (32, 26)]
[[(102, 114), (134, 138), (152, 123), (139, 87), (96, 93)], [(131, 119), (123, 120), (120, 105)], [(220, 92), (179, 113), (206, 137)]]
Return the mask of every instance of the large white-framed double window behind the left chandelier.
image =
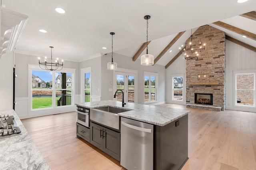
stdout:
[[(63, 68), (61, 71), (48, 71), (38, 69), (38, 66), (29, 65), (31, 77), (31, 108), (55, 108), (73, 106), (74, 70)], [(63, 81), (62, 81), (63, 80)], [(67, 80), (70, 80), (67, 82)]]

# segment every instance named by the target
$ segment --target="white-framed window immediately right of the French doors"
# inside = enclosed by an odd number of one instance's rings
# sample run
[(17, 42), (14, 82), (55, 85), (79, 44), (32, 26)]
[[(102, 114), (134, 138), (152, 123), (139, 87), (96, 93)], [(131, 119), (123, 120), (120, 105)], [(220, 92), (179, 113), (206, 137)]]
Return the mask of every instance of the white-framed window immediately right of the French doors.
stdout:
[(158, 74), (144, 72), (144, 102), (157, 102)]

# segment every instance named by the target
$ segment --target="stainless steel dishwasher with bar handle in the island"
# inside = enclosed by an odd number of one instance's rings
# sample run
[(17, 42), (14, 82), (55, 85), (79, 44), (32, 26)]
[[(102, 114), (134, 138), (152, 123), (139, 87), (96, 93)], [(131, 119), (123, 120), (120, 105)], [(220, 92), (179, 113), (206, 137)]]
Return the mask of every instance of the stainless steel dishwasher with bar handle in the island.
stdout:
[(153, 170), (154, 125), (121, 117), (120, 164), (128, 170)]

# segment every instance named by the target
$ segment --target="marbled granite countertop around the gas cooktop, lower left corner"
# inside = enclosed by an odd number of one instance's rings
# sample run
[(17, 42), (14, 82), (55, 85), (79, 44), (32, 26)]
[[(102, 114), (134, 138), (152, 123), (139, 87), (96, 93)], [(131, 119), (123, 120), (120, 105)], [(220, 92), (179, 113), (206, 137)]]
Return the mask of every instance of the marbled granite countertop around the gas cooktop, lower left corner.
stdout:
[(0, 169), (50, 170), (15, 111), (0, 111), (0, 115), (7, 114), (14, 116), (22, 134), (0, 138)]

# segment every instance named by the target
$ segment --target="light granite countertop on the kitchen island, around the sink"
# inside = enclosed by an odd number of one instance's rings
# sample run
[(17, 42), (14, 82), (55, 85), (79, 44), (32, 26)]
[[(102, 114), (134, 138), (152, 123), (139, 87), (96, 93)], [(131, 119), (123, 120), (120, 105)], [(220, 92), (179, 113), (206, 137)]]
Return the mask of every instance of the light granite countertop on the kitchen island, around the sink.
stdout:
[[(96, 109), (98, 107), (104, 106), (113, 106), (113, 107), (122, 107), (122, 102), (117, 102), (114, 100), (104, 100), (98, 102), (86, 102), (76, 104), (76, 106), (87, 107), (90, 109)], [(157, 107), (152, 105), (144, 104), (134, 104), (126, 103), (122, 109), (132, 109), (130, 111), (125, 111), (118, 113), (118, 115), (153, 125), (164, 126), (172, 121), (177, 120), (184, 115), (190, 113), (187, 110), (181, 109), (172, 109), (167, 107)]]

